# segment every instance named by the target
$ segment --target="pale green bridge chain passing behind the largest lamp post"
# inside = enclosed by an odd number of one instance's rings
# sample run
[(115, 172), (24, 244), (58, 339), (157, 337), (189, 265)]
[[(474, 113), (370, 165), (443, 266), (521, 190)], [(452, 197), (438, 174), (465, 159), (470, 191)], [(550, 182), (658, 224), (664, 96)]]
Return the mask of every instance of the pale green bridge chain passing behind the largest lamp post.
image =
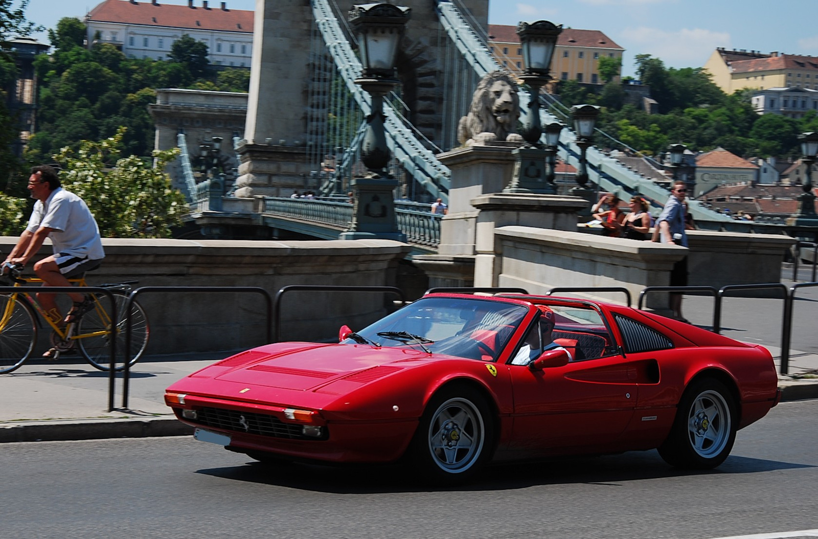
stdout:
[[(350, 46), (342, 31), (338, 19), (333, 13), (328, 0), (312, 0), (312, 15), (315, 18), (321, 35), (326, 43), (339, 74), (344, 79), (348, 91), (352, 94), (364, 115), (371, 115), (371, 98), (368, 93), (355, 83), (362, 71), (353, 47)], [(438, 161), (434, 153), (427, 150), (414, 133), (406, 128), (393, 110), (389, 100), (384, 100), (384, 122), (389, 150), (406, 172), (415, 178), (434, 198), (448, 199), (451, 183), (451, 171)]]

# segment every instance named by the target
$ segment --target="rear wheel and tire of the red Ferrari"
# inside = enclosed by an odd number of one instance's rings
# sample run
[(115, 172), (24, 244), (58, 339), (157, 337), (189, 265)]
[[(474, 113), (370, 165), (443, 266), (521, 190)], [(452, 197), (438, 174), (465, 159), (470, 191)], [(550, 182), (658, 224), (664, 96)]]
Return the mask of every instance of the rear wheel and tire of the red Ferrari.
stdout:
[(733, 449), (736, 422), (730, 390), (718, 380), (698, 380), (685, 389), (659, 455), (680, 468), (715, 468)]

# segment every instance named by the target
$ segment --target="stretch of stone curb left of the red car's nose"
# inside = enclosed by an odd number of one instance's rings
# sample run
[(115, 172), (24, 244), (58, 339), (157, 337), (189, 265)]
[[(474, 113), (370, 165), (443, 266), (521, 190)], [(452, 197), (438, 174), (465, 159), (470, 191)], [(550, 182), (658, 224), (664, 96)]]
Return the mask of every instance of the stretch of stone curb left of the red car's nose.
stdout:
[(20, 421), (0, 426), (0, 443), (186, 436), (192, 433), (191, 427), (176, 418)]

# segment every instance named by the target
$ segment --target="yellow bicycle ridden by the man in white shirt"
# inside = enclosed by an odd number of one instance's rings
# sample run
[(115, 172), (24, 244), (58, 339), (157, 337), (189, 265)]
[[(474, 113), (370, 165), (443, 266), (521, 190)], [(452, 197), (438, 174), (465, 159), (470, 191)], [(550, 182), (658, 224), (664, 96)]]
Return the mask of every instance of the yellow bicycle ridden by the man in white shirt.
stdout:
[[(11, 277), (15, 287), (43, 282), (42, 279), (36, 277), (20, 276), (21, 267), (7, 264), (3, 270)], [(69, 279), (69, 281), (77, 286), (87, 286), (84, 276)], [(46, 321), (47, 325), (51, 326), (51, 344), (58, 353), (79, 349), (79, 353), (85, 357), (86, 361), (100, 371), (110, 371), (110, 339), (111, 335), (114, 335), (117, 339), (115, 370), (124, 369), (125, 300), (132, 290), (131, 285), (135, 282), (99, 285), (100, 288), (110, 290), (114, 294), (116, 327), (111, 325), (110, 299), (105, 297), (105, 294), (100, 296), (89, 294), (94, 304), (92, 310), (83, 314), (78, 321), (62, 327), (58, 326), (59, 321), (52, 320), (43, 311), (34, 298), (34, 293), (15, 291), (11, 294), (0, 294), (0, 374), (15, 371), (29, 358), (37, 343), (38, 328), (43, 327), (40, 320)], [(2, 282), (2, 277), (0, 277), (0, 284), (8, 285)], [(40, 316), (37, 317), (37, 314)], [(131, 303), (129, 316), (131, 346), (128, 363), (133, 366), (145, 351), (150, 329), (145, 311), (139, 303)]]

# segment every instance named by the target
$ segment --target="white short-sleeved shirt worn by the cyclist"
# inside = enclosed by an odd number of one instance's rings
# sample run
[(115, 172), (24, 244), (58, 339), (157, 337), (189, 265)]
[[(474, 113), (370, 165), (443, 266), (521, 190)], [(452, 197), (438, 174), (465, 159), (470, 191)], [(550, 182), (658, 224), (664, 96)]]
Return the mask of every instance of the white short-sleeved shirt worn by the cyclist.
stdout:
[(100, 240), (100, 229), (88, 204), (79, 196), (57, 187), (43, 204), (34, 203), (34, 211), (26, 230), (35, 232), (39, 227), (54, 228), (48, 237), (54, 254), (64, 254), (89, 260), (105, 258)]

